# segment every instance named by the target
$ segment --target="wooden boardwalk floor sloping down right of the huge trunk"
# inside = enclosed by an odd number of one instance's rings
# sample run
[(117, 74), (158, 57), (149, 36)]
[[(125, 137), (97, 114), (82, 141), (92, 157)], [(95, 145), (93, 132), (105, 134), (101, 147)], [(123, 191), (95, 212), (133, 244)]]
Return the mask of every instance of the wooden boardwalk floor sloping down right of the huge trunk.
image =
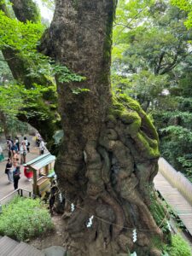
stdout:
[(178, 217), (183, 221), (183, 224), (192, 236), (192, 206), (181, 195), (181, 193), (169, 183), (160, 172), (154, 177), (154, 187), (160, 191), (168, 205), (174, 212), (177, 212)]

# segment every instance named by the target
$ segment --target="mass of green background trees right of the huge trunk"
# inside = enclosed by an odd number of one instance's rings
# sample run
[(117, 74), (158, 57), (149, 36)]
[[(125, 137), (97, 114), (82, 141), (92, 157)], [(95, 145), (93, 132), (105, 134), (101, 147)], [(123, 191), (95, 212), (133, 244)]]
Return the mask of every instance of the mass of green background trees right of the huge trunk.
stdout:
[(137, 98), (153, 116), (161, 154), (191, 177), (191, 30), (184, 26), (187, 13), (169, 1), (120, 1), (117, 14), (113, 89)]

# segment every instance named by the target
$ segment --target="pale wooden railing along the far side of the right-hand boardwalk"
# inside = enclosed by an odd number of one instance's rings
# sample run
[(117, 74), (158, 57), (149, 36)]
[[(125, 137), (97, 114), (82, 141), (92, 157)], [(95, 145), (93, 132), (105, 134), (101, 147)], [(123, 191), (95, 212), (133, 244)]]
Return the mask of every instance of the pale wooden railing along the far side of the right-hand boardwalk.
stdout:
[(159, 171), (164, 177), (177, 188), (187, 201), (192, 205), (192, 183), (183, 176), (181, 172), (177, 172), (164, 158), (159, 160)]

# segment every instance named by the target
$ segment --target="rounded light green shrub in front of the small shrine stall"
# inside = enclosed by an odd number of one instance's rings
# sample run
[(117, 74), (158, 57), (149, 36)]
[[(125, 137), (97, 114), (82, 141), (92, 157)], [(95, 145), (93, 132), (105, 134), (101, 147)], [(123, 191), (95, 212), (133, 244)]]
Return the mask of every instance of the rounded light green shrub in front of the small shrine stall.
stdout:
[(49, 212), (39, 199), (15, 196), (0, 215), (0, 234), (19, 241), (39, 236), (53, 229)]

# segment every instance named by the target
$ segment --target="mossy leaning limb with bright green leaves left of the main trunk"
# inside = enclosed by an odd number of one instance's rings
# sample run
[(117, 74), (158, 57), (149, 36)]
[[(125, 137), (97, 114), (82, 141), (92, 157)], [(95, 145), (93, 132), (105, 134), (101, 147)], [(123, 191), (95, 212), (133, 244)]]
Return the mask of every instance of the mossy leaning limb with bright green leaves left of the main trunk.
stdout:
[(56, 112), (55, 82), (49, 60), (38, 55), (36, 50), (45, 27), (40, 23), (37, 5), (31, 0), (10, 2), (13, 3), (13, 10), (4, 1), (0, 3), (3, 10), (0, 15), (3, 56), (17, 84), (24, 85), (29, 91), (44, 87), (41, 96), (35, 100), (34, 97), (26, 97), (27, 107), (22, 108), (17, 116), (35, 126), (44, 139), (52, 144), (52, 136), (61, 127)]

